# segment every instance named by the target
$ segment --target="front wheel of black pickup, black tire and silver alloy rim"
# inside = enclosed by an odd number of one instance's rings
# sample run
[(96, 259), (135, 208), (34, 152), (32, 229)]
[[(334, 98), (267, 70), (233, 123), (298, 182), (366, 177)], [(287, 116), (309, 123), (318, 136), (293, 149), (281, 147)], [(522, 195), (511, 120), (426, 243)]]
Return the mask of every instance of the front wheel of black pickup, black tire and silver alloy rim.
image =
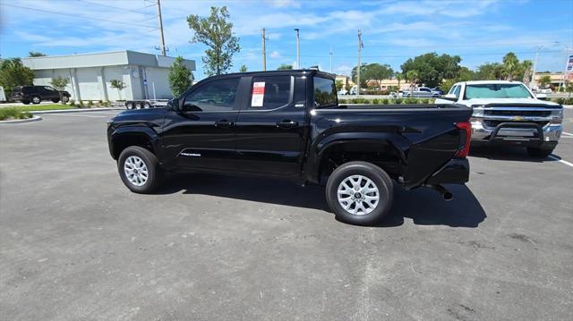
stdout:
[(158, 158), (139, 146), (122, 151), (117, 161), (117, 170), (128, 189), (143, 194), (157, 189), (163, 176)]

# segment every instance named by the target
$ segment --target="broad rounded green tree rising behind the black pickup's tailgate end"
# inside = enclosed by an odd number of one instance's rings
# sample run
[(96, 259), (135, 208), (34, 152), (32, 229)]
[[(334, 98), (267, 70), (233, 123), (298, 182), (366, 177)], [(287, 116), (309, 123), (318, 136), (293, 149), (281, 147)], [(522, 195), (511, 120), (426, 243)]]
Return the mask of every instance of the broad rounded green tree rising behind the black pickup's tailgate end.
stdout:
[[(402, 72), (417, 72), (416, 80), (429, 87), (440, 86), (444, 79), (455, 79), (458, 77), (461, 58), (458, 55), (438, 55), (427, 53), (418, 55), (414, 59), (410, 58), (400, 65)], [(407, 77), (406, 77), (407, 78)]]

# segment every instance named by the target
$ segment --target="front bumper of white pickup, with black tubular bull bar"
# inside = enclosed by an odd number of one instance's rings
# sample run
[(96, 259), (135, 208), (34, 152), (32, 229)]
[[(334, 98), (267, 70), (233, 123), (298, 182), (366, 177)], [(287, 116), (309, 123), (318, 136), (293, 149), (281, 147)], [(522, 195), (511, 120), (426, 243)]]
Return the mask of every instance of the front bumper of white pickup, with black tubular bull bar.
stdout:
[(472, 122), (472, 143), (507, 144), (524, 147), (556, 145), (563, 127), (558, 123), (541, 126), (535, 122), (501, 122), (489, 127), (481, 121)]

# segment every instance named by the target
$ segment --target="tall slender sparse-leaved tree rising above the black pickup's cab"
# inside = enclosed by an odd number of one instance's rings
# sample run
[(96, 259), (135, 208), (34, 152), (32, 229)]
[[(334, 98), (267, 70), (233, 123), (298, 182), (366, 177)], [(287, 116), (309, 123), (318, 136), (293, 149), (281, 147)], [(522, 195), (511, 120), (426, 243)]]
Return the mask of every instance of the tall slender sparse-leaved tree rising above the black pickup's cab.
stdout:
[(228, 20), (227, 6), (212, 6), (209, 17), (196, 14), (187, 17), (189, 28), (195, 32), (191, 42), (209, 47), (201, 60), (210, 76), (227, 72), (233, 66), (233, 55), (241, 51), (239, 38), (233, 35), (233, 23)]

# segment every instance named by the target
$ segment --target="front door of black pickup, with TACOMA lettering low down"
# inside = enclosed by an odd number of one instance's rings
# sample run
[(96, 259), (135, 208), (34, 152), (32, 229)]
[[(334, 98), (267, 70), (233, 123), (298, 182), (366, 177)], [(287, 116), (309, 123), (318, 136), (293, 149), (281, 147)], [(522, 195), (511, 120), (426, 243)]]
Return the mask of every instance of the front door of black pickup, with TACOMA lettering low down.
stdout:
[(167, 159), (188, 169), (235, 171), (240, 80), (211, 80), (181, 97), (187, 111), (166, 115), (162, 145)]

